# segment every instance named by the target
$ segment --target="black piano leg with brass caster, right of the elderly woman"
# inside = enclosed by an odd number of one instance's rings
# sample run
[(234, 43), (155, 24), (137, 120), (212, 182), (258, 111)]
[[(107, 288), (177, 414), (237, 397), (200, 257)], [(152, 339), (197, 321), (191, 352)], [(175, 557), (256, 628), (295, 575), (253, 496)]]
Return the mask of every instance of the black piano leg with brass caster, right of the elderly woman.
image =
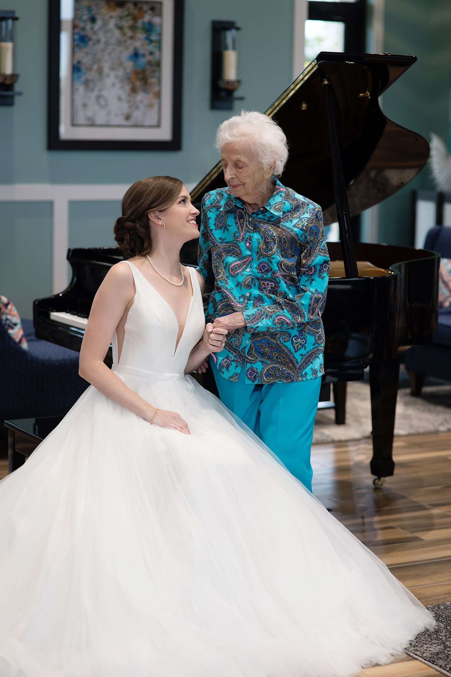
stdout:
[(370, 365), (371, 418), (373, 421), (373, 458), (371, 473), (375, 487), (394, 473), (393, 435), (400, 363), (398, 357)]

